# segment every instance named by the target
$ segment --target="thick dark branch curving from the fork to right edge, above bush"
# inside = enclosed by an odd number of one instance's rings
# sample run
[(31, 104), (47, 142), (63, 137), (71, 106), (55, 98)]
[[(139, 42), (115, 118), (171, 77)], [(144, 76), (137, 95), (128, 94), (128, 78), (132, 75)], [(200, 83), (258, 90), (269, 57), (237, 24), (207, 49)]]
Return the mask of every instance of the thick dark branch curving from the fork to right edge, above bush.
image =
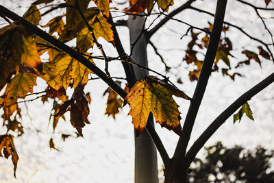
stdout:
[(246, 103), (251, 97), (259, 93), (261, 90), (269, 86), (269, 84), (274, 82), (274, 73), (266, 77), (262, 82), (253, 86), (250, 90), (240, 96), (234, 103), (232, 103), (228, 108), (226, 108), (220, 115), (217, 117), (208, 128), (197, 138), (197, 141), (190, 147), (188, 153), (186, 154), (186, 163), (189, 166), (192, 160), (194, 160), (195, 156), (199, 152), (199, 150), (206, 144), (206, 141), (219, 129), (223, 123), (234, 113), (240, 106)]

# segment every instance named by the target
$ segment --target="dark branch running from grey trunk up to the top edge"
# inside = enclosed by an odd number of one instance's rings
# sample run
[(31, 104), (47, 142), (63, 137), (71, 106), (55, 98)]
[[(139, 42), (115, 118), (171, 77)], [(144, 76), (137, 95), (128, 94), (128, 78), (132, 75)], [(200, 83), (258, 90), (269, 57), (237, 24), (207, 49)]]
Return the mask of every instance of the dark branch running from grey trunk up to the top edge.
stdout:
[(162, 19), (162, 21), (160, 21), (157, 25), (155, 25), (149, 32), (147, 32), (147, 38), (151, 38), (151, 36), (158, 31), (158, 29), (160, 29), (160, 27), (162, 27), (162, 25), (164, 25), (167, 21), (169, 21), (173, 16), (175, 16), (176, 14), (178, 14), (179, 12), (182, 12), (183, 10), (186, 10), (187, 8), (190, 7), (191, 3), (193, 3), (196, 0), (188, 0), (186, 1), (186, 3), (184, 3), (183, 5), (181, 5), (179, 8), (177, 8), (176, 10), (173, 10), (172, 12), (169, 13), (169, 16), (164, 17), (164, 19)]

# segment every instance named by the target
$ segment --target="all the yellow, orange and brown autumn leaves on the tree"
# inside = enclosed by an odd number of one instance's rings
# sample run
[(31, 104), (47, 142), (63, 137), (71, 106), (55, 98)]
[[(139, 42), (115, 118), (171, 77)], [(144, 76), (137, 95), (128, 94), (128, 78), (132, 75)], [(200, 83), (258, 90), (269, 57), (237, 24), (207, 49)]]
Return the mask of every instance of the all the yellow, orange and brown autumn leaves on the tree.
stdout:
[[(115, 47), (114, 31), (110, 24), (111, 0), (93, 0), (93, 7), (90, 7), (91, 0), (66, 0), (66, 3), (60, 4), (64, 5), (62, 8), (66, 8), (64, 14), (58, 14), (45, 25), (40, 25), (42, 15), (39, 6), (42, 3), (51, 2), (53, 0), (35, 1), (25, 12), (23, 19), (33, 25), (39, 25), (46, 30), (47, 34), (60, 40), (60, 42), (75, 40), (73, 49), (81, 53), (90, 64), (95, 64), (90, 50), (95, 45), (100, 50), (102, 49), (97, 42), (99, 38), (112, 43)], [(129, 0), (129, 8), (126, 8), (124, 12), (125, 14), (143, 12), (149, 15), (155, 6), (158, 6), (160, 12), (167, 12), (173, 3), (173, 0)], [(271, 0), (265, 0), (265, 3), (267, 6)], [(229, 27), (223, 27), (223, 32), (227, 32), (228, 29)], [(193, 29), (190, 30), (191, 40), (188, 43), (183, 61), (188, 65), (195, 66), (195, 69), (188, 73), (190, 81), (195, 81), (199, 79), (203, 66), (203, 61), (198, 59), (197, 54), (200, 50), (208, 48), (210, 35), (194, 32)], [(212, 24), (210, 23), (205, 30), (211, 32)], [(235, 80), (236, 75), (242, 76), (242, 74), (231, 73), (232, 66), (229, 58), (234, 57), (230, 53), (232, 50), (232, 42), (227, 36), (223, 36), (219, 42), (212, 71), (221, 71), (223, 75)], [(44, 54), (48, 56), (46, 61), (40, 58)], [(258, 53), (245, 49), (242, 50), (242, 54), (246, 56), (247, 60), (238, 62), (234, 69), (244, 64), (250, 64), (251, 60), (255, 60), (261, 66), (262, 58), (271, 59), (269, 53), (262, 47), (258, 47)], [(220, 60), (226, 67), (219, 68)], [(169, 67), (166, 66), (166, 68)], [(40, 98), (43, 103), (53, 101), (49, 119), (51, 123), (53, 118), (53, 133), (60, 119), (66, 120), (65, 113), (69, 112), (71, 125), (77, 130), (77, 136), (83, 136), (82, 128), (90, 123), (88, 121), (88, 114), (90, 113), (88, 103), (91, 102), (90, 94), (84, 93), (84, 86), (88, 83), (91, 74), (92, 71), (69, 54), (49, 44), (46, 40), (30, 34), (20, 21), (10, 23), (10, 25), (0, 29), (0, 91), (4, 90), (0, 97), (0, 108), (3, 109), (1, 116), (3, 125), (7, 127), (6, 134), (0, 135), (0, 156), (5, 158), (12, 156), (14, 176), (18, 155), (12, 140), (14, 137), (10, 135), (10, 132), (14, 132), (17, 136), (24, 133), (20, 122), (21, 109), (18, 103), (22, 102), (22, 99), (26, 99), (28, 95), (39, 95), (37, 99)], [(36, 86), (38, 78), (44, 80), (47, 87), (41, 93), (34, 93), (33, 88)], [(178, 80), (178, 82), (182, 81)], [(66, 95), (66, 90), (69, 87), (74, 90), (70, 99)], [(126, 86), (125, 91), (128, 95), (124, 99), (124, 105), (127, 103), (130, 105), (129, 115), (132, 116), (132, 123), (134, 123), (137, 135), (140, 135), (145, 129), (150, 113), (153, 114), (156, 123), (168, 130), (173, 130), (179, 136), (182, 135), (181, 113), (173, 95), (188, 100), (190, 97), (170, 84), (168, 78), (167, 80), (160, 80), (157, 77), (146, 75), (144, 79), (136, 82), (132, 88)], [(108, 95), (105, 114), (111, 115), (115, 119), (116, 114), (123, 107), (123, 100), (111, 88), (105, 90), (103, 95)], [(234, 123), (237, 120), (240, 121), (244, 113), (253, 119), (249, 104), (245, 103), (234, 115)], [(64, 141), (69, 136), (72, 135), (62, 134)], [(49, 140), (49, 147), (57, 150), (53, 138)]]

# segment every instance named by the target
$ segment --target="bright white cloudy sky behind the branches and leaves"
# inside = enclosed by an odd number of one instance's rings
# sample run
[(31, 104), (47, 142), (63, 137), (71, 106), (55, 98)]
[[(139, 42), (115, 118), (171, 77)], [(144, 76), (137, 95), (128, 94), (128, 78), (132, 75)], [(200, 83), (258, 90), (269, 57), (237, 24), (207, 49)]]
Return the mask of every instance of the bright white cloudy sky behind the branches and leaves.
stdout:
[[(260, 1), (262, 2), (250, 0), (251, 3), (258, 3), (258, 5), (264, 7), (264, 1)], [(184, 1), (175, 0), (175, 5), (171, 10), (182, 4), (182, 2)], [(197, 1), (195, 5), (203, 10), (214, 12), (215, 2), (214, 0)], [(27, 1), (0, 0), (0, 4), (14, 10), (14, 12), (20, 15), (23, 15), (23, 12), (28, 7)], [(273, 7), (274, 3), (271, 6)], [(60, 12), (60, 14), (62, 13)], [(270, 17), (273, 14), (265, 12), (263, 16)], [(176, 16), (176, 18), (198, 27), (206, 27), (208, 25), (207, 21), (212, 22), (213, 20), (210, 16), (205, 16), (205, 14), (199, 14), (191, 10), (186, 10)], [(268, 34), (262, 33), (262, 23), (260, 23), (260, 19), (256, 17), (251, 8), (244, 8), (239, 3), (230, 0), (227, 5), (225, 20), (235, 23), (240, 27), (245, 27), (247, 32), (253, 36), (257, 36), (263, 40), (270, 40)], [(43, 21), (40, 24), (45, 25), (47, 21)], [(1, 19), (0, 23), (3, 23), (3, 19)], [(273, 19), (268, 21), (268, 25), (274, 32)], [(187, 28), (182, 23), (169, 21), (166, 27), (160, 29), (152, 38), (152, 42), (159, 48), (160, 53), (162, 53), (169, 66), (177, 66), (182, 62), (184, 49), (186, 49), (189, 38), (185, 37), (182, 40), (179, 38), (185, 34)], [(118, 27), (117, 29), (121, 33), (121, 40), (127, 53), (129, 53), (128, 30), (125, 27)], [(228, 36), (234, 43), (235, 51), (232, 51), (232, 54), (240, 61), (245, 60), (245, 56), (239, 54), (242, 49), (256, 50), (254, 47), (258, 46), (256, 42), (249, 40), (249, 38), (233, 28), (229, 31)], [(103, 43), (108, 56), (116, 56), (116, 51), (112, 45), (103, 39), (99, 39), (99, 42)], [(95, 50), (94, 55), (99, 55), (99, 52)], [(148, 55), (149, 67), (164, 73), (164, 66), (161, 64), (158, 56), (155, 56), (155, 52), (150, 46), (148, 47)], [(96, 60), (95, 62), (97, 66), (103, 69), (104, 63), (102, 61)], [(236, 63), (234, 60), (232, 64), (235, 66)], [(182, 64), (182, 68), (184, 67), (186, 67), (186, 64)], [(199, 109), (190, 145), (230, 103), (264, 79), (264, 77), (271, 74), (273, 70), (273, 62), (269, 60), (262, 61), (262, 69), (258, 63), (252, 60), (250, 66), (240, 69), (240, 72), (245, 77), (236, 77), (235, 82), (232, 82), (229, 77), (222, 77), (221, 73), (213, 73), (212, 77), (210, 77), (206, 94), (203, 97), (201, 108)], [(123, 76), (121, 75), (121, 71), (123, 71), (123, 68), (119, 61), (110, 62), (111, 75)], [(191, 83), (188, 81), (188, 72), (186, 69), (180, 69), (179, 71), (172, 69), (171, 73), (177, 73), (182, 77), (184, 84), (178, 84), (178, 87), (192, 96), (197, 82)], [(176, 79), (171, 73), (168, 75), (175, 82)], [(34, 92), (44, 90), (45, 82), (42, 80), (38, 80), (37, 82), (38, 86), (35, 86)], [(26, 127), (26, 130), (23, 136), (14, 140), (19, 156), (16, 171), (17, 179), (13, 177), (12, 161), (0, 158), (0, 182), (134, 182), (134, 134), (131, 123), (132, 119), (131, 117), (127, 117), (129, 108), (125, 106), (121, 110), (121, 113), (116, 115), (115, 121), (112, 117), (108, 118), (105, 116), (107, 96), (103, 97), (102, 95), (106, 88), (107, 86), (100, 80), (94, 80), (86, 85), (85, 90), (86, 92), (90, 92), (92, 97), (90, 115), (88, 117), (92, 124), (84, 127), (84, 138), (67, 138), (66, 142), (62, 141), (58, 133), (53, 136), (51, 124), (49, 129), (47, 129), (52, 103), (42, 104), (39, 100), (27, 103), (29, 114), (25, 105), (21, 104), (22, 123)], [(235, 144), (247, 148), (263, 145), (266, 148), (274, 149), (274, 99), (271, 99), (274, 97), (273, 89), (274, 85), (272, 84), (249, 101), (255, 121), (243, 117), (240, 123), (237, 122), (234, 125), (231, 117), (210, 138), (206, 145), (222, 141), (228, 147), (232, 147)], [(71, 91), (68, 93), (71, 93)], [(184, 120), (189, 102), (182, 99), (177, 99), (177, 101), (180, 106), (179, 110), (182, 112), (182, 119)], [(32, 118), (32, 123), (29, 117)], [(73, 134), (75, 130), (71, 127), (69, 116), (66, 116), (66, 119), (68, 119), (67, 122), (60, 121), (58, 123), (55, 131)], [(34, 127), (42, 132), (37, 134)], [(156, 125), (156, 131), (162, 138), (169, 155), (172, 156), (178, 139), (177, 135), (169, 132), (169, 130), (162, 129), (160, 125)], [(0, 127), (0, 132), (2, 132), (0, 134), (4, 134), (5, 128)], [(59, 151), (49, 149), (49, 138), (51, 137), (53, 137), (55, 146)], [(198, 156), (201, 157), (202, 153)], [(161, 161), (159, 161), (158, 166), (161, 169)]]

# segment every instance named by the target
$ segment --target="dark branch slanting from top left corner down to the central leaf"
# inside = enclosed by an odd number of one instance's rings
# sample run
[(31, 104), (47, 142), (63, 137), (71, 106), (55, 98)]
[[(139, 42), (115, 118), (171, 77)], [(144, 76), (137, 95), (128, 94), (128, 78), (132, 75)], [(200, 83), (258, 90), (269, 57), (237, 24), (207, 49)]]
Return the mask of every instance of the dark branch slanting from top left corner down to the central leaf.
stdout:
[(99, 67), (95, 66), (95, 64), (92, 64), (88, 59), (86, 59), (84, 56), (82, 56), (80, 53), (69, 47), (68, 45), (65, 45), (64, 43), (60, 42), (60, 40), (57, 40), (53, 38), (53, 36), (47, 34), (46, 32), (42, 31), (42, 29), (36, 27), (32, 23), (29, 23), (29, 21), (26, 21), (21, 16), (18, 16), (14, 12), (8, 10), (7, 8), (3, 7), (3, 5), (0, 5), (0, 12), (7, 16), (8, 18), (12, 19), (13, 21), (20, 21), (20, 23), (29, 30), (29, 32), (32, 32), (33, 34), (36, 34), (43, 40), (46, 40), (54, 47), (57, 47), (58, 49), (64, 51), (65, 53), (68, 53), (72, 58), (77, 60), (78, 62), (81, 62), (86, 66), (90, 71), (101, 77), (101, 79), (112, 88), (116, 93), (118, 93), (122, 98), (125, 98), (127, 96), (127, 93), (118, 85), (116, 82), (114, 82), (111, 78), (109, 78)]

